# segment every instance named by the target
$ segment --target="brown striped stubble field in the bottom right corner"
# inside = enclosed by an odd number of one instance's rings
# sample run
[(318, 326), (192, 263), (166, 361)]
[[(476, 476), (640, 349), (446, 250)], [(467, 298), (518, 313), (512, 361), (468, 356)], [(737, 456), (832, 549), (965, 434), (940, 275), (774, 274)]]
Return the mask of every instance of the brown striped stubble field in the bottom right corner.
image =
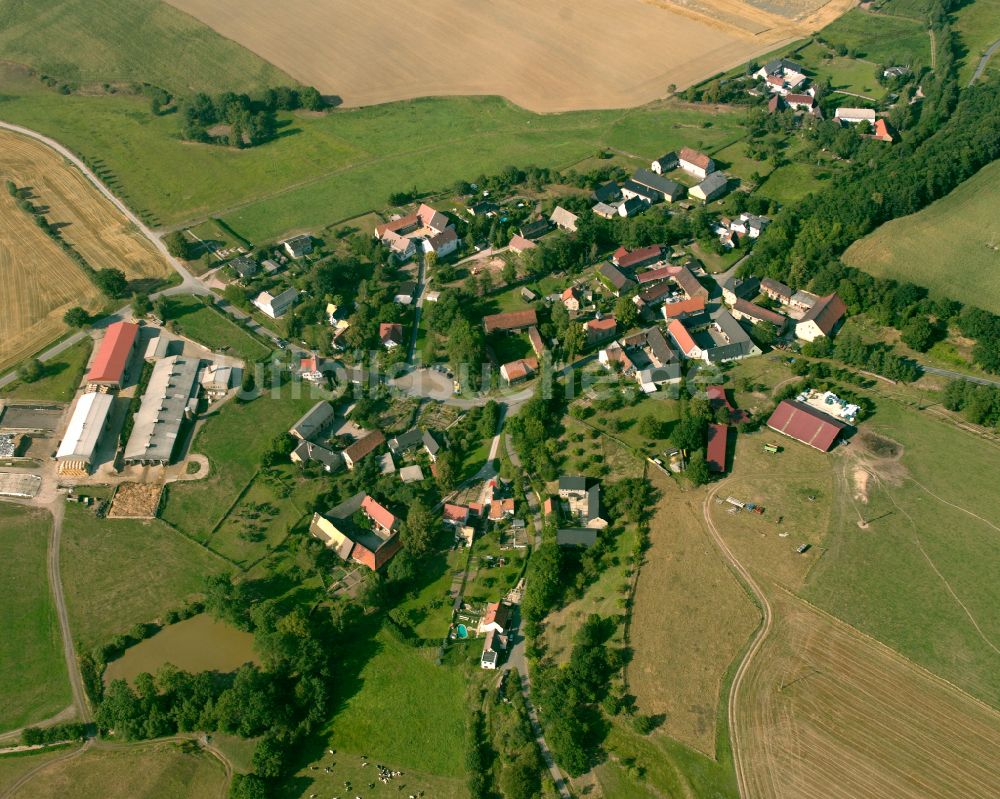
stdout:
[(791, 594), (740, 689), (758, 799), (1000, 796), (1000, 713)]

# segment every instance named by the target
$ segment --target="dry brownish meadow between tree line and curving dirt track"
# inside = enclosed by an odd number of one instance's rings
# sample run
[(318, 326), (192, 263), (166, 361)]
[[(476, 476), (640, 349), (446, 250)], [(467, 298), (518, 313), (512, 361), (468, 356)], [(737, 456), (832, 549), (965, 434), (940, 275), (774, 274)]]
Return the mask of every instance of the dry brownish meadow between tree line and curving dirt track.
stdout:
[(629, 691), (661, 729), (715, 754), (719, 687), (759, 613), (702, 528), (701, 493), (683, 493), (650, 469), (660, 493), (639, 573), (629, 642)]

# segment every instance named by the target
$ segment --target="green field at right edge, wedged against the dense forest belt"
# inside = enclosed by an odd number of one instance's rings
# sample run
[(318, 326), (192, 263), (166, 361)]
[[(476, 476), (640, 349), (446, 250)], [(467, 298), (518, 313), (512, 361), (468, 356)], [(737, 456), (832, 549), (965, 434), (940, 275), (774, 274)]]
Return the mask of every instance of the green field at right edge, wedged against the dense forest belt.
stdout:
[(994, 162), (922, 211), (856, 241), (844, 262), (1000, 313), (998, 203), (1000, 162)]

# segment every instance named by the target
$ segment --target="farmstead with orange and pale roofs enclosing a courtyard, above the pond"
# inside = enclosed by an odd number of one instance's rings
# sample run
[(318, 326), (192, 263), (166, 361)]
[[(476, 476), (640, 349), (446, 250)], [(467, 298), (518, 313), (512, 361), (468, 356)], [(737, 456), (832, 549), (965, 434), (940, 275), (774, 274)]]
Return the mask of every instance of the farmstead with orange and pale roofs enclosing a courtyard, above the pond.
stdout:
[[(363, 524), (355, 521), (360, 515)], [(337, 553), (378, 571), (401, 546), (399, 520), (385, 507), (361, 492), (325, 514), (314, 513), (309, 532)]]

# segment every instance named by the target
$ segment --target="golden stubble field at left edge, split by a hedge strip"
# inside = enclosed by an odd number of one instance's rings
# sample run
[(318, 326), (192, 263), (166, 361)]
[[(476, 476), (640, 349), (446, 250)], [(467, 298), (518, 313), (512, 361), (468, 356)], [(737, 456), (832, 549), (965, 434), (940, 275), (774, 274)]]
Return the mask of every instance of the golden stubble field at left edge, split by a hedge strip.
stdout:
[[(115, 267), (129, 279), (162, 278), (169, 266), (115, 207), (60, 155), (0, 130), (0, 178), (30, 187), (63, 238), (95, 269)], [(37, 351), (65, 329), (62, 315), (103, 303), (83, 270), (44, 234), (32, 216), (0, 192), (0, 368)]]

